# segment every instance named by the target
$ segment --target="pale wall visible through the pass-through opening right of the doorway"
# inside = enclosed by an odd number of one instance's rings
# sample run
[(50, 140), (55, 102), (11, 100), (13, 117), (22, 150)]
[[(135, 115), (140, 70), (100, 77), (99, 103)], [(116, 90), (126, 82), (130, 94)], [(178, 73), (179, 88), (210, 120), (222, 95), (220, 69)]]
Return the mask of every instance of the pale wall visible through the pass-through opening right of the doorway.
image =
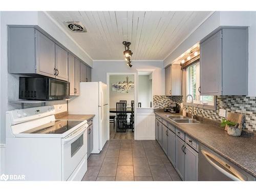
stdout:
[(138, 102), (142, 108), (150, 108), (152, 101), (152, 79), (150, 75), (139, 75), (138, 78)]

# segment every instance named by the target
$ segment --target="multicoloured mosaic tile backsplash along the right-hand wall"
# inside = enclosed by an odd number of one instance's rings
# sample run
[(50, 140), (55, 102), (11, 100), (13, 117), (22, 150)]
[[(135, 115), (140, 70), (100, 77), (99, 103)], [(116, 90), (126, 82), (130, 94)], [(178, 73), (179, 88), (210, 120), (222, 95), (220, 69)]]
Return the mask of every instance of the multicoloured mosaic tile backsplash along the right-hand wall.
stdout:
[[(181, 103), (182, 96), (154, 96), (154, 108), (164, 108), (168, 103)], [(216, 110), (207, 110), (202, 108), (194, 108), (194, 114), (221, 121), (223, 117), (219, 116), (219, 109), (225, 109), (226, 113), (238, 113), (245, 115), (243, 128), (256, 133), (256, 97), (247, 96), (217, 96)], [(188, 107), (191, 112), (191, 107)]]

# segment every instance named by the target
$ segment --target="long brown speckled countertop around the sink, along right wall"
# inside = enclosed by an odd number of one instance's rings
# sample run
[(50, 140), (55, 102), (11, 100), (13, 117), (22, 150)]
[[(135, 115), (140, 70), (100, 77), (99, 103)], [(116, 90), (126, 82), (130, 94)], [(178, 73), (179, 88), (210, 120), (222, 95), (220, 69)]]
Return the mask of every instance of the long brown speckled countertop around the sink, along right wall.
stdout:
[(187, 135), (209, 147), (212, 151), (236, 164), (248, 174), (256, 177), (255, 136), (249, 138), (232, 137), (224, 129), (214, 124), (206, 122), (181, 124), (166, 117), (165, 115), (170, 115), (168, 112), (155, 111), (155, 114), (174, 124), (181, 131), (184, 131)]

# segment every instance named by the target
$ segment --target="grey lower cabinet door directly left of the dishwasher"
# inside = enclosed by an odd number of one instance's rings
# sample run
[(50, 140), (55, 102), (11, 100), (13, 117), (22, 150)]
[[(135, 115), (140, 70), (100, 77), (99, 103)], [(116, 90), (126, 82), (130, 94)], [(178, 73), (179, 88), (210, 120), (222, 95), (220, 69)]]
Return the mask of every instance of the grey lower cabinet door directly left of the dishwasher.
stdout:
[(198, 181), (198, 153), (189, 145), (185, 148), (185, 181)]

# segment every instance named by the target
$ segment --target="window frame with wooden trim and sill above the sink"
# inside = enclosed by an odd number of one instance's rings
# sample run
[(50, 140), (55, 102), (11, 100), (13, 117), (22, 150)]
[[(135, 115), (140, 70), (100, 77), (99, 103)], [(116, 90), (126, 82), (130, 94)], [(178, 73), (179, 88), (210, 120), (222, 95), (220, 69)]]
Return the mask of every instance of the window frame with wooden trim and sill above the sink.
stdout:
[[(184, 98), (184, 101), (185, 101), (185, 103), (183, 103), (183, 105), (188, 105), (188, 106), (192, 106), (192, 101), (191, 101), (191, 99), (189, 99), (189, 98), (191, 98), (191, 97), (188, 97), (188, 99), (186, 99), (186, 96), (187, 96), (187, 94), (189, 94), (188, 93), (188, 87), (189, 87), (189, 85), (188, 85), (188, 68), (189, 67), (191, 67), (191, 66), (193, 66), (193, 65), (197, 65), (197, 63), (198, 63), (198, 65), (199, 65), (199, 68), (200, 68), (200, 59), (197, 59), (197, 60), (195, 60), (195, 61), (193, 61), (193, 62), (191, 62), (190, 63), (190, 65), (189, 66), (187, 66), (184, 70), (183, 70), (183, 82), (184, 82), (184, 91), (183, 91), (183, 93), (185, 93), (184, 95), (183, 95), (183, 98)], [(197, 75), (199, 74), (199, 79), (197, 79), (197, 84), (200, 84), (200, 73), (197, 73)], [(199, 86), (197, 86), (196, 87), (196, 92), (198, 92), (198, 87)], [(202, 109), (207, 109), (207, 110), (216, 110), (217, 109), (217, 97), (216, 96), (214, 96), (214, 105), (209, 105), (209, 104), (203, 104), (203, 103), (201, 103), (202, 101), (200, 100), (201, 99), (201, 96), (202, 95), (198, 95), (199, 96), (199, 100), (196, 100), (196, 101), (199, 101), (200, 103), (195, 103), (194, 102), (194, 107), (196, 107), (196, 108), (202, 108)]]

